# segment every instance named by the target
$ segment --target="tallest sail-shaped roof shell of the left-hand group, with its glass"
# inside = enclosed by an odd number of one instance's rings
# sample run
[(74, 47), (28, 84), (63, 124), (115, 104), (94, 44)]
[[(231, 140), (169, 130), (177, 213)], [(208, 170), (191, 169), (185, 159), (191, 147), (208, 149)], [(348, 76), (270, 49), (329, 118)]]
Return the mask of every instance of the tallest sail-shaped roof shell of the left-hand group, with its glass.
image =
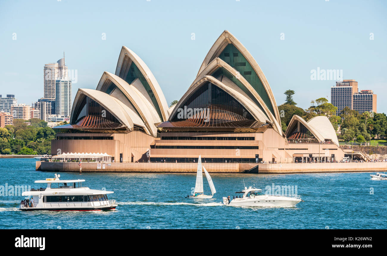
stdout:
[(153, 104), (160, 119), (168, 119), (168, 104), (156, 78), (144, 61), (126, 46), (122, 46), (115, 74), (128, 84), (138, 80), (137, 89)]

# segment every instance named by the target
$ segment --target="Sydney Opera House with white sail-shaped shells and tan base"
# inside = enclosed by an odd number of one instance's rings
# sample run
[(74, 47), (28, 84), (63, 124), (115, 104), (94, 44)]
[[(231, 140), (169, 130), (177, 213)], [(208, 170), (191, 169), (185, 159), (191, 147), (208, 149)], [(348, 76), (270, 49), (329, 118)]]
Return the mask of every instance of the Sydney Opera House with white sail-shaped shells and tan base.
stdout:
[[(115, 162), (315, 162), (341, 160), (325, 116), (293, 116), (284, 133), (272, 89), (230, 32), (216, 40), (195, 80), (168, 107), (147, 65), (123, 46), (115, 73), (79, 89), (51, 154), (103, 153)], [(164, 87), (164, 90), (168, 88)]]

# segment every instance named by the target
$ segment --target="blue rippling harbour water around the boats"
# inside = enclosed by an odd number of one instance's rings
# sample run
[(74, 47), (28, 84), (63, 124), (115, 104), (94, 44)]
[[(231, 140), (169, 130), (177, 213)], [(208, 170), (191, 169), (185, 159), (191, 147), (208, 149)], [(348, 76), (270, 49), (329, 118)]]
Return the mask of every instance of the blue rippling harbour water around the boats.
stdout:
[[(34, 159), (0, 159), (0, 185), (31, 185), (53, 177), (35, 171)], [(0, 196), (0, 229), (386, 229), (387, 182), (370, 173), (211, 174), (217, 193), (203, 202), (185, 199), (195, 174), (65, 173), (84, 186), (114, 191), (110, 212), (21, 212), (21, 196)], [(221, 205), (222, 196), (254, 183), (257, 188), (297, 186), (305, 202), (292, 208)], [(206, 184), (207, 181), (204, 181)], [(208, 186), (208, 185), (207, 185)], [(373, 188), (374, 195), (370, 195)]]

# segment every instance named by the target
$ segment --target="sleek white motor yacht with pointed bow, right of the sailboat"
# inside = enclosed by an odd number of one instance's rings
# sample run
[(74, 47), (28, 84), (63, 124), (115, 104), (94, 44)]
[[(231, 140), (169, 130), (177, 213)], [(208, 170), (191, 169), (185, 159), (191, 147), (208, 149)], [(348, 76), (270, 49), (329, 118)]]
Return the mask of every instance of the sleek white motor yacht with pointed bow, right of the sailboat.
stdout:
[(272, 196), (265, 195), (262, 189), (248, 187), (235, 193), (243, 194), (241, 198), (234, 198), (228, 202), (228, 198), (223, 197), (223, 204), (235, 206), (264, 206), (264, 207), (293, 207), (300, 203), (300, 196)]

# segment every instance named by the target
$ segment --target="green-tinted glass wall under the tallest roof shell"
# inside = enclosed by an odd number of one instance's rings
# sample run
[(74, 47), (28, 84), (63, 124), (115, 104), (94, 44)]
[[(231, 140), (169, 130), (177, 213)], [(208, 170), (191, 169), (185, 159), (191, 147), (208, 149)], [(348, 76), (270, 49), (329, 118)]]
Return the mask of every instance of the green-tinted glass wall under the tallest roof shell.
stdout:
[(262, 81), (259, 79), (258, 74), (255, 73), (250, 63), (246, 60), (245, 56), (243, 56), (233, 44), (228, 44), (218, 57), (231, 67), (235, 68), (247, 80), (265, 102), (270, 112), (276, 116)]

